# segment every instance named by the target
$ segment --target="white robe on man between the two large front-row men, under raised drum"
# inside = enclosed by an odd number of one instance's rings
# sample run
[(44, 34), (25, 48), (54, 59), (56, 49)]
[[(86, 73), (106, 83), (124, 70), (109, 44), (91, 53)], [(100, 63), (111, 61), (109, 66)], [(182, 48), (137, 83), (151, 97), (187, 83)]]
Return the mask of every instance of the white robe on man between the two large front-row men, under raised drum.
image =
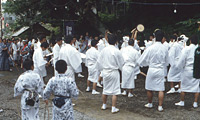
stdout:
[(121, 49), (125, 64), (122, 67), (122, 88), (135, 88), (135, 67), (139, 58), (139, 52), (133, 46), (127, 46)]

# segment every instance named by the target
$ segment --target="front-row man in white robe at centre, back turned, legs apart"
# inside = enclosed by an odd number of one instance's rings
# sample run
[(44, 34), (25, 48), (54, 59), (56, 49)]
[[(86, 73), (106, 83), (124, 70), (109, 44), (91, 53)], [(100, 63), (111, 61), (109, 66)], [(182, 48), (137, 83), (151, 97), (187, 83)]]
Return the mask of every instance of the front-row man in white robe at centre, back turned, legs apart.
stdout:
[(121, 70), (124, 64), (121, 52), (114, 46), (116, 42), (116, 37), (113, 34), (108, 34), (110, 45), (101, 51), (97, 60), (98, 69), (102, 71), (103, 77), (103, 105), (101, 109), (107, 108), (107, 96), (112, 95), (112, 113), (119, 112), (119, 109), (116, 108), (117, 95), (121, 94), (119, 69)]

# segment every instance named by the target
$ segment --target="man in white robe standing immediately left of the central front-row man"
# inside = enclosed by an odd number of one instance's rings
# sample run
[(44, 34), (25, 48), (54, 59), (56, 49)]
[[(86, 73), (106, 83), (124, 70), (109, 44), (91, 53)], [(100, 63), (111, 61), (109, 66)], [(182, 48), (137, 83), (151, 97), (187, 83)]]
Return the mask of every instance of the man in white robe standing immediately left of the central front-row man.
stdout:
[(99, 57), (99, 51), (97, 50), (97, 40), (93, 40), (91, 42), (91, 48), (86, 52), (86, 66), (88, 67), (88, 80), (87, 80), (87, 89), (86, 91), (90, 91), (90, 82), (93, 82), (92, 94), (100, 94), (96, 91), (96, 86), (98, 82), (98, 78), (100, 72), (96, 66), (97, 59)]

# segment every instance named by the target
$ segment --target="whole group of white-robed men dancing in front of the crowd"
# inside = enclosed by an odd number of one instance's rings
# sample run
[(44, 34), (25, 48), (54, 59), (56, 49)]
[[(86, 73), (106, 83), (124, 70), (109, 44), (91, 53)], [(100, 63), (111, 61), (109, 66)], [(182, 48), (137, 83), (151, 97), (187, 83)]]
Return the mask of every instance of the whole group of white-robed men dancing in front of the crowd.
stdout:
[[(48, 43), (43, 40), (39, 41), (41, 45), (33, 54), (34, 71), (38, 73), (41, 78), (46, 76), (45, 66), (49, 64), (43, 55), (43, 51), (48, 48)], [(123, 40), (124, 42), (119, 50), (116, 46), (116, 36), (106, 32), (105, 38), (100, 39), (99, 41), (91, 41), (91, 48), (87, 50), (86, 56), (84, 56), (72, 46), (74, 43), (72, 36), (68, 36), (65, 43), (62, 38), (57, 39), (57, 43), (53, 48), (53, 65), (55, 68), (55, 78), (53, 79), (59, 79), (60, 77), (60, 73), (58, 73), (56, 69), (57, 61), (64, 60), (67, 64), (67, 70), (63, 74), (67, 76), (67, 78), (70, 78), (70, 80), (75, 81), (75, 73), (82, 72), (81, 63), (83, 62), (82, 59), (84, 59), (85, 65), (88, 67), (86, 91), (90, 91), (90, 82), (92, 82), (92, 94), (100, 94), (96, 90), (96, 87), (102, 87), (102, 81), (103, 105), (101, 109), (107, 109), (107, 97), (111, 95), (111, 112), (116, 113), (119, 112), (119, 109), (116, 107), (117, 95), (128, 94), (128, 97), (133, 97), (133, 89), (135, 88), (135, 79), (137, 79), (137, 75), (140, 73), (145, 75), (140, 71), (140, 67), (148, 66), (149, 68), (145, 80), (148, 103), (145, 107), (153, 107), (153, 92), (157, 91), (159, 92), (158, 111), (163, 111), (162, 105), (164, 100), (166, 76), (167, 81), (170, 82), (171, 85), (171, 89), (167, 93), (177, 92), (175, 91), (173, 83), (179, 83), (178, 92), (181, 93), (181, 100), (180, 102), (175, 103), (175, 105), (184, 106), (185, 92), (192, 92), (195, 93), (193, 107), (198, 107), (197, 100), (199, 95), (199, 79), (193, 78), (192, 70), (194, 52), (198, 47), (197, 37), (192, 36), (190, 38), (189, 46), (186, 46), (188, 38), (184, 35), (179, 38), (172, 37), (171, 41), (168, 43), (164, 37), (164, 33), (160, 29), (156, 29), (154, 37), (152, 36), (152, 39), (145, 42), (145, 48), (141, 48), (144, 50), (142, 54), (137, 43), (137, 30), (132, 33), (132, 36), (124, 36)], [(167, 72), (167, 67), (169, 65), (170, 69), (169, 72)], [(121, 83), (119, 70), (122, 72)], [(47, 87), (50, 89), (51, 87), (49, 87), (50, 85), (48, 84)], [(57, 84), (62, 83), (58, 82)], [(47, 90), (44, 94), (47, 94)], [(54, 95), (58, 96), (60, 94), (59, 92), (54, 92)], [(58, 116), (61, 113), (64, 114), (63, 109), (56, 108), (56, 106), (54, 107), (53, 114), (58, 119)], [(57, 115), (55, 115), (55, 113), (57, 113)], [(61, 116), (62, 117), (59, 119), (63, 118), (63, 115)]]

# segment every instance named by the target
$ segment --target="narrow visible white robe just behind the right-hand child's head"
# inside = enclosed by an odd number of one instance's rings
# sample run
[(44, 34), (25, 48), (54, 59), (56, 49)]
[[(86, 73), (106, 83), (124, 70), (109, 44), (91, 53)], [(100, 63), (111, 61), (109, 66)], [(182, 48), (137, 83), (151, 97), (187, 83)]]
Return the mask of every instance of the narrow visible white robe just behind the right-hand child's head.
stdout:
[(60, 48), (61, 47), (57, 43), (53, 47), (53, 66), (54, 66), (55, 76), (58, 75), (58, 72), (55, 70), (55, 68), (56, 68), (56, 62), (58, 61), (58, 58), (59, 58)]

